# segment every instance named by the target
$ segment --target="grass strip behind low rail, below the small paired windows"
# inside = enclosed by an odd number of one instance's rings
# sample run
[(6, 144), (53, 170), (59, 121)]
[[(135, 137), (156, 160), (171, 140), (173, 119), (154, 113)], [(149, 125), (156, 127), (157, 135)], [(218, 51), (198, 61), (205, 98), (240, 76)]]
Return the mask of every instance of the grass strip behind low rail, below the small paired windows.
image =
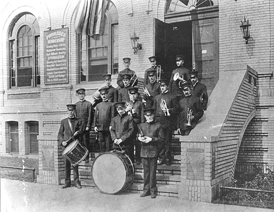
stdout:
[[(25, 167), (25, 168), (35, 168), (35, 179), (38, 174), (38, 159), (31, 158), (18, 158), (18, 157), (4, 157), (1, 156), (1, 166), (14, 166), (14, 167)], [(12, 180), (21, 180), (26, 182), (32, 181), (32, 171), (29, 170), (19, 170), (11, 168), (2, 168), (0, 169), (1, 178), (12, 179)]]

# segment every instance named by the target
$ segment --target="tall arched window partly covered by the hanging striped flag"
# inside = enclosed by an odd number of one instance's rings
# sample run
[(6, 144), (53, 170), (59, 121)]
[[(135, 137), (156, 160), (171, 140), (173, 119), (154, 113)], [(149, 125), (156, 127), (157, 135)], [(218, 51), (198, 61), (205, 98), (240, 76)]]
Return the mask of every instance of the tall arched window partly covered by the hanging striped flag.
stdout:
[[(80, 35), (80, 82), (102, 80), (106, 73), (118, 73), (118, 11), (110, 0), (105, 0), (103, 6), (101, 32), (88, 30), (88, 35)], [(89, 28), (94, 29), (95, 25), (96, 18)]]

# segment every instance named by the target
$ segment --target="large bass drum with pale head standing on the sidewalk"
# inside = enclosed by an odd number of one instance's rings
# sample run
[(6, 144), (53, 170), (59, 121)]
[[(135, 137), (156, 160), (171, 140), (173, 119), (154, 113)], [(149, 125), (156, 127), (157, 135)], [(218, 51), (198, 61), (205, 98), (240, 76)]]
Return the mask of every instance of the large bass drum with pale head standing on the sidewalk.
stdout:
[(129, 156), (117, 150), (100, 154), (92, 165), (94, 184), (105, 194), (116, 194), (129, 188), (134, 174)]

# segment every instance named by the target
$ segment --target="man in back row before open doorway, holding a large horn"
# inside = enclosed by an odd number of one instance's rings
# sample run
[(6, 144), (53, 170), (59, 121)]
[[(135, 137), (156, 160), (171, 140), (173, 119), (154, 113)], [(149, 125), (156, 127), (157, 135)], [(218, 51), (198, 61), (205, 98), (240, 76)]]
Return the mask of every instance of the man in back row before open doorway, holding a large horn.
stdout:
[(174, 94), (179, 102), (182, 98), (184, 98), (184, 94), (182, 89), (176, 86), (176, 81), (173, 80), (173, 77), (176, 73), (179, 73), (179, 77), (186, 82), (189, 80), (189, 70), (183, 67), (184, 60), (182, 55), (176, 56), (176, 64), (178, 68), (172, 71), (168, 91)]

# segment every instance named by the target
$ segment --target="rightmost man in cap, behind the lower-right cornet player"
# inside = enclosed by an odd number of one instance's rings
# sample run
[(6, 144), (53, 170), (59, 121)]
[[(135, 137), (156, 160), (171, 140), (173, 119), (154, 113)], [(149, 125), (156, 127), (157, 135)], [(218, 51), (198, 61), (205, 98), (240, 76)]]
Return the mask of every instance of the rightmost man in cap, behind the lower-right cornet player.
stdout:
[(192, 95), (200, 98), (203, 109), (206, 110), (208, 101), (206, 85), (198, 81), (198, 71), (189, 72), (189, 76), (193, 85)]

